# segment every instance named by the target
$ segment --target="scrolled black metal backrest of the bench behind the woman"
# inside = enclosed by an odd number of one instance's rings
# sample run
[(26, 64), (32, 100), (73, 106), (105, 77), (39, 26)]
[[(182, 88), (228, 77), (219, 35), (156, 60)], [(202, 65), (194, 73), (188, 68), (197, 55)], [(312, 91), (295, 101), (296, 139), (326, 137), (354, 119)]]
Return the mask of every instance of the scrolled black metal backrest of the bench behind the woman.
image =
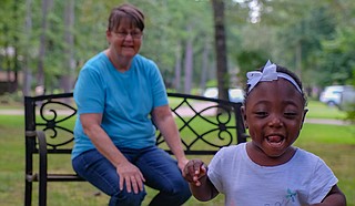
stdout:
[[(221, 147), (246, 142), (241, 103), (168, 93), (186, 154), (214, 154)], [(38, 153), (33, 131), (45, 132), (48, 153), (71, 153), (77, 109), (72, 93), (26, 96), (27, 156)], [(156, 132), (156, 144), (168, 151)], [(170, 151), (168, 151), (170, 152)]]

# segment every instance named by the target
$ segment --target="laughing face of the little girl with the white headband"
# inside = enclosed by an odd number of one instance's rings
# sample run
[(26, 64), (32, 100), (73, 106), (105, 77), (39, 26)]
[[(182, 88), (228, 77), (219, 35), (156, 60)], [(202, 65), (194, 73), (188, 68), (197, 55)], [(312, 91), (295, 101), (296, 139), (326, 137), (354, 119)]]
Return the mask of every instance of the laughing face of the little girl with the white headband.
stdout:
[(266, 159), (293, 155), (290, 148), (298, 137), (307, 111), (292, 83), (282, 78), (260, 82), (248, 94), (242, 112), (253, 154), (262, 154)]

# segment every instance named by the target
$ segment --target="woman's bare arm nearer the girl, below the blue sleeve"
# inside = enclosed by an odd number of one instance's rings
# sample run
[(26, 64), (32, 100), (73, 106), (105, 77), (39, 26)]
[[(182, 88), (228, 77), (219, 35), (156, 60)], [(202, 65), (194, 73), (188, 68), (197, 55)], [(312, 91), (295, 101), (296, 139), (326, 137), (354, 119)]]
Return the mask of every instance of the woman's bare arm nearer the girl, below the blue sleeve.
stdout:
[(181, 171), (185, 167), (187, 158), (183, 151), (179, 130), (169, 105), (158, 106), (152, 112), (153, 121), (162, 133), (172, 153), (175, 155)]

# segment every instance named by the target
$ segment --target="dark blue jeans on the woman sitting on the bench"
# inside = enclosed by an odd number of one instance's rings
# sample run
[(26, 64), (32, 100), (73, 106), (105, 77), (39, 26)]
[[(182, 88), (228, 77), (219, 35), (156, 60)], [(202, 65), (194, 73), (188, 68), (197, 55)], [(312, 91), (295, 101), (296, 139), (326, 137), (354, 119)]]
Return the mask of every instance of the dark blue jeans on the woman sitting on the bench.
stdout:
[[(145, 185), (160, 193), (150, 203), (154, 205), (182, 205), (191, 197), (189, 184), (182, 177), (176, 161), (163, 150), (151, 146), (142, 150), (119, 148), (121, 153), (140, 168)], [(128, 193), (120, 190), (120, 176), (115, 167), (97, 150), (88, 151), (72, 161), (74, 171), (100, 190), (111, 196), (110, 206), (139, 206), (145, 190)]]

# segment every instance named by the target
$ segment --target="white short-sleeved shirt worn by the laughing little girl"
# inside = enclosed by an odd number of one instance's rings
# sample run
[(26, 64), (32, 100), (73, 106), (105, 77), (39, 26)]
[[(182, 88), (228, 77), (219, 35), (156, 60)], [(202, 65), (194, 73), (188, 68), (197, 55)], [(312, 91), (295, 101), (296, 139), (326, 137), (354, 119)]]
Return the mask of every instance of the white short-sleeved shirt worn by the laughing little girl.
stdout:
[(209, 178), (226, 206), (298, 206), (321, 203), (338, 182), (318, 156), (297, 148), (285, 164), (260, 166), (246, 143), (223, 147), (209, 165)]

